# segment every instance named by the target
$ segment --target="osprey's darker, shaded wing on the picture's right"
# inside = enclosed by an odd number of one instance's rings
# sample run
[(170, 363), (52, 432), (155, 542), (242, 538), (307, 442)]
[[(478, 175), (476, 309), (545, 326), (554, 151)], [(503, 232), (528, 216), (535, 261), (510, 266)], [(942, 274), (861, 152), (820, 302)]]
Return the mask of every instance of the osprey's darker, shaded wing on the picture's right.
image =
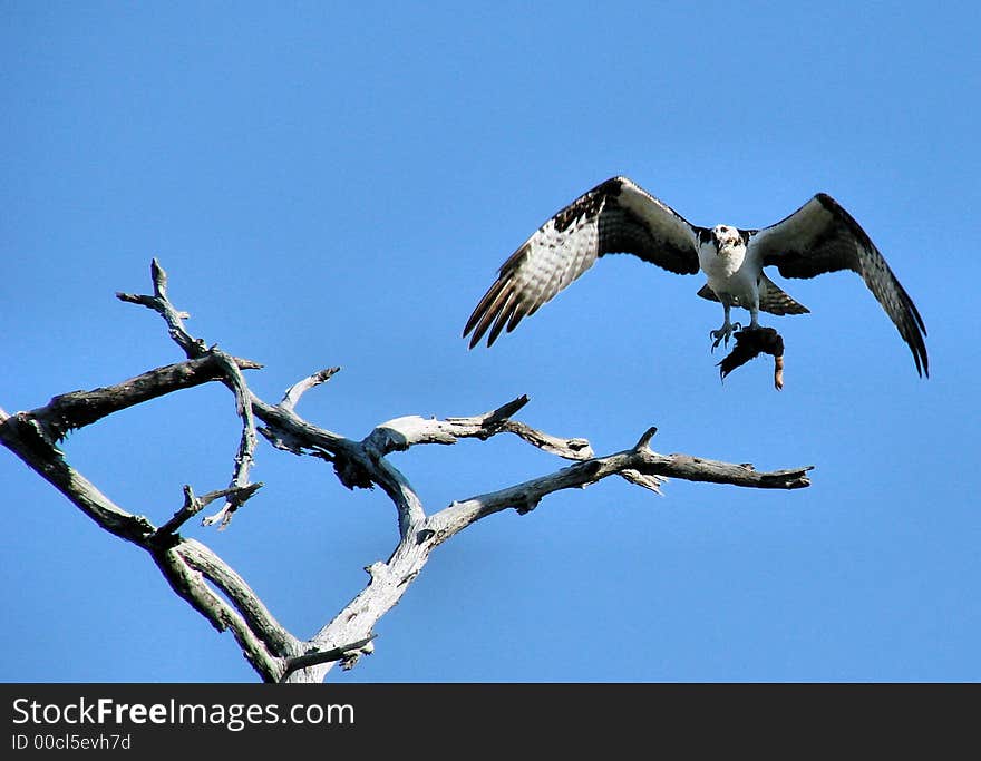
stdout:
[(916, 305), (865, 231), (829, 195), (818, 193), (786, 219), (754, 231), (750, 246), (764, 266), (776, 265), (784, 277), (857, 272), (910, 347), (916, 372), (930, 375), (926, 328)]

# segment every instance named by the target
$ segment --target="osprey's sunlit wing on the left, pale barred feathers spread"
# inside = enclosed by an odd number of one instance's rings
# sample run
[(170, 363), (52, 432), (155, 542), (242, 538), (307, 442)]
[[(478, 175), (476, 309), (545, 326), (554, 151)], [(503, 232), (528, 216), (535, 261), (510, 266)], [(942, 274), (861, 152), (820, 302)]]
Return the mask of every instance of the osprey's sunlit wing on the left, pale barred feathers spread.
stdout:
[[(678, 274), (698, 272), (698, 236), (689, 224), (627, 177), (612, 177), (538, 227), (501, 266), (464, 328), (470, 349), (492, 345), (570, 285), (604, 254), (634, 254)], [(488, 333), (489, 330), (489, 333)]]

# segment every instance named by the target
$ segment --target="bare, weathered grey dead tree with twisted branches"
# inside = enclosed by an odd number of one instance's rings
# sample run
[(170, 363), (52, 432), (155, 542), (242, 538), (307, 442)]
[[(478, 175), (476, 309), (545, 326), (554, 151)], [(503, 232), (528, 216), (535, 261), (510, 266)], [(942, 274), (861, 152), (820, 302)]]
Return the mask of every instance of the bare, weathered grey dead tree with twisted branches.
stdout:
[[(515, 420), (514, 414), (527, 403), (527, 397), (465, 418), (397, 418), (377, 426), (360, 441), (348, 439), (314, 426), (295, 411), (301, 396), (327, 381), (337, 368), (299, 381), (275, 404), (263, 401), (250, 391), (243, 375), (243, 371), (261, 365), (192, 336), (184, 326), (187, 314), (172, 304), (166, 273), (156, 261), (150, 274), (153, 295), (116, 295), (159, 313), (171, 338), (187, 359), (116, 386), (55, 397), (48, 404), (30, 411), (8, 414), (0, 409), (0, 441), (99, 527), (146, 550), (174, 592), (216, 630), (232, 632), (242, 653), (264, 681), (320, 682), (338, 663), (344, 669), (352, 667), (362, 655), (373, 651), (376, 623), (398, 603), (434, 549), (482, 518), (508, 508), (527, 513), (543, 497), (560, 489), (585, 487), (609, 476), (619, 476), (658, 494), (670, 477), (765, 489), (797, 489), (809, 485), (806, 472), (810, 467), (758, 472), (749, 465), (689, 455), (659, 455), (649, 446), (654, 428), (648, 429), (629, 449), (596, 457), (585, 439), (550, 436)], [(225, 384), (235, 396), (242, 422), (231, 481), (223, 489), (203, 495), (184, 486), (183, 504), (159, 525), (113, 503), (72, 468), (58, 448), (69, 431), (108, 414), (215, 381)], [(451, 445), (464, 438), (486, 440), (498, 433), (513, 433), (538, 449), (572, 460), (573, 465), (429, 511), (409, 480), (388, 459), (391, 452), (418, 445)], [(288, 632), (232, 567), (206, 545), (181, 535), (187, 520), (218, 500), (222, 500), (221, 508), (202, 523), (226, 527), (233, 515), (256, 495), (262, 484), (250, 479), (250, 470), (259, 435), (276, 449), (326, 460), (341, 484), (350, 489), (379, 487), (395, 506), (399, 528), (395, 550), (387, 560), (377, 560), (367, 567), (367, 586), (310, 638)]]

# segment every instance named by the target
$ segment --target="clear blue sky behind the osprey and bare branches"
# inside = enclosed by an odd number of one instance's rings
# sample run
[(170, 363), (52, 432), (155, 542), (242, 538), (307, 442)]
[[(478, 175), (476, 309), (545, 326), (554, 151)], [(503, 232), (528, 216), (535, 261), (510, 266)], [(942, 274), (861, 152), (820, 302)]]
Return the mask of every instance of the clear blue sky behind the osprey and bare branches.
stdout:
[[(402, 414), (527, 393), (519, 418), (775, 469), (809, 489), (614, 479), (494, 516), (434, 554), (331, 679), (981, 679), (981, 372), (972, 227), (977, 3), (0, 2), (0, 407), (179, 360), (118, 302), (157, 256), (188, 329), (262, 362), (275, 400), (323, 367), (311, 421), (361, 438)], [(472, 352), (494, 273), (583, 191), (625, 174), (696, 224), (770, 224), (814, 193), (868, 231), (929, 330), (931, 378), (858, 277), (785, 282), (761, 360), (720, 383), (701, 277), (603, 261)], [(72, 436), (69, 461), (163, 523), (221, 488), (223, 388)], [(309, 636), (397, 539), (383, 495), (262, 445), (266, 486), (225, 557)], [(516, 439), (394, 456), (430, 510), (562, 467)], [(620, 480), (620, 479), (615, 479)], [(0, 679), (253, 681), (231, 635), (148, 558), (0, 451)]]

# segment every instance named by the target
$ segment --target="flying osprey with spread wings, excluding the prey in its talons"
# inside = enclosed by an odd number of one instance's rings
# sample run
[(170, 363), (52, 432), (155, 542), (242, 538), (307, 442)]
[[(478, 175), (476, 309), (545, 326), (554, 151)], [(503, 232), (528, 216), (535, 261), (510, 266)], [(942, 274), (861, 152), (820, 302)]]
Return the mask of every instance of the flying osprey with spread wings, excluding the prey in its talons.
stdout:
[(759, 328), (759, 312), (804, 314), (809, 310), (764, 273), (776, 266), (784, 277), (814, 277), (852, 270), (910, 347), (916, 372), (930, 374), (923, 319), (885, 258), (857, 222), (825, 193), (818, 193), (780, 222), (761, 230), (731, 225), (699, 227), (627, 177), (612, 177), (583, 194), (538, 227), (501, 266), (497, 281), (467, 320), (470, 349), (487, 335), (492, 345), (528, 314), (572, 284), (605, 254), (628, 253), (680, 275), (701, 271), (698, 292), (722, 304), (725, 319), (710, 332), (712, 348), (728, 344), (730, 310), (749, 311), (747, 330)]

